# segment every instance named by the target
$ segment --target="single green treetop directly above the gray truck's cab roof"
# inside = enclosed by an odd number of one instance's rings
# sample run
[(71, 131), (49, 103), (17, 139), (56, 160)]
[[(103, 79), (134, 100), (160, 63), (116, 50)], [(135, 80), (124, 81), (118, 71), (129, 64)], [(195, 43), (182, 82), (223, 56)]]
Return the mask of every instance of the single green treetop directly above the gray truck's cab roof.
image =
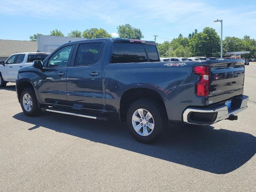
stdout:
[(132, 27), (130, 24), (119, 25), (117, 27), (119, 37), (126, 39), (141, 39), (144, 38), (142, 32), (138, 28)]

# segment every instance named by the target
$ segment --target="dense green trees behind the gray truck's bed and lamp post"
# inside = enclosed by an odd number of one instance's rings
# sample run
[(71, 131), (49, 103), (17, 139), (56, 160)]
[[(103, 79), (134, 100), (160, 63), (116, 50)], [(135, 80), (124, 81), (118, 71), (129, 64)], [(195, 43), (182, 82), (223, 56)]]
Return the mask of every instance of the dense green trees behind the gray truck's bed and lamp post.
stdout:
[[(159, 43), (157, 49), (160, 56), (171, 57), (192, 57), (220, 56), (221, 40), (215, 29), (205, 27), (202, 32), (198, 33), (195, 29), (188, 37), (179, 34), (172, 41)], [(233, 51), (250, 51), (249, 54), (242, 54), (244, 58), (256, 58), (256, 40), (245, 35), (244, 38), (226, 37), (223, 40), (223, 55)]]

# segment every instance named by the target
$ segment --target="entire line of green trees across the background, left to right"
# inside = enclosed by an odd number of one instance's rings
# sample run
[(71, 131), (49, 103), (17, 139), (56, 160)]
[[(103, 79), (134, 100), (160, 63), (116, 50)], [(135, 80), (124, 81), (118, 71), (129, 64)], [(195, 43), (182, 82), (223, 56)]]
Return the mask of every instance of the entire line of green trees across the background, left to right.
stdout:
[[(130, 24), (117, 26), (118, 35), (120, 38), (141, 39), (144, 38), (141, 30), (135, 28)], [(37, 35), (30, 36), (31, 41), (37, 41)], [(49, 35), (64, 37), (61, 30), (55, 29), (50, 31)], [(67, 37), (83, 37), (88, 39), (93, 38), (107, 38), (112, 37), (103, 28), (90, 28), (83, 32), (79, 30), (72, 30), (67, 34)], [(215, 29), (205, 27), (202, 32), (195, 29), (188, 37), (183, 37), (179, 34), (177, 38), (171, 41), (164, 41), (164, 43), (157, 43), (157, 49), (160, 56), (171, 57), (192, 57), (192, 56), (206, 56), (219, 57), (220, 56), (221, 40)], [(226, 37), (223, 40), (223, 55), (232, 51), (250, 51), (250, 54), (242, 54), (244, 58), (256, 58), (256, 40), (245, 35), (244, 38)]]

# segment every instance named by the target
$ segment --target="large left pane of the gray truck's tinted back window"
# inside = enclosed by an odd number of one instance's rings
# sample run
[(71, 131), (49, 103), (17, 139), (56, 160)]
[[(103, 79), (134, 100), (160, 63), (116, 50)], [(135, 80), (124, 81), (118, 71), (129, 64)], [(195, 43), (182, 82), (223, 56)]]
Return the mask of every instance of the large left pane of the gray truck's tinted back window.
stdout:
[(148, 62), (142, 44), (114, 43), (111, 63), (141, 63)]

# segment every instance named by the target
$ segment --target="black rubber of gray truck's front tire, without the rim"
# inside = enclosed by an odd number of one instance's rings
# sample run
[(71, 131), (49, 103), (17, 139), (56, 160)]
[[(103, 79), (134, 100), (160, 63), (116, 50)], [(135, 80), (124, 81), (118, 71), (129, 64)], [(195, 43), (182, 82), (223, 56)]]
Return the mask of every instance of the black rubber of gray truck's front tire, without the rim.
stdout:
[[(29, 94), (32, 100), (32, 107), (30, 111), (25, 110), (24, 105), (23, 105), (23, 96), (25, 94)], [(22, 111), (25, 113), (27, 116), (38, 116), (41, 112), (40, 107), (38, 106), (37, 103), (37, 97), (35, 95), (35, 91), (32, 87), (28, 87), (22, 90), (21, 95), (20, 95), (20, 106), (22, 108)]]

